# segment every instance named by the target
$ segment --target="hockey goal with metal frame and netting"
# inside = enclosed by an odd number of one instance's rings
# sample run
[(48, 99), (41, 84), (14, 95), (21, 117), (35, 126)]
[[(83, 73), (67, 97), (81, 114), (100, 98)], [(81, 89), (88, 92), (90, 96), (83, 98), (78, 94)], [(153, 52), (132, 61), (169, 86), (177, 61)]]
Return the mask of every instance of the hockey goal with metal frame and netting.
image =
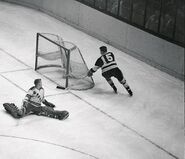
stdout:
[(80, 49), (58, 35), (37, 33), (35, 70), (63, 89), (86, 90), (94, 86)]

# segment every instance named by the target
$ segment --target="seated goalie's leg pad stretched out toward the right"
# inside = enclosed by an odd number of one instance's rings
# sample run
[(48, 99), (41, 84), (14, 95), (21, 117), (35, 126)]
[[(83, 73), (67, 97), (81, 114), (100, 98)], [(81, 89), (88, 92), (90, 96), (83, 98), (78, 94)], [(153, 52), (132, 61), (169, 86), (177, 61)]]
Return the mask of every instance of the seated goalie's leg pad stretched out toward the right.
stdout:
[(65, 111), (65, 110), (58, 111), (58, 110), (54, 110), (50, 107), (44, 106), (44, 107), (42, 107), (42, 112), (39, 115), (47, 116), (47, 117), (55, 118), (55, 119), (59, 119), (59, 120), (64, 120), (64, 119), (68, 118), (69, 112)]

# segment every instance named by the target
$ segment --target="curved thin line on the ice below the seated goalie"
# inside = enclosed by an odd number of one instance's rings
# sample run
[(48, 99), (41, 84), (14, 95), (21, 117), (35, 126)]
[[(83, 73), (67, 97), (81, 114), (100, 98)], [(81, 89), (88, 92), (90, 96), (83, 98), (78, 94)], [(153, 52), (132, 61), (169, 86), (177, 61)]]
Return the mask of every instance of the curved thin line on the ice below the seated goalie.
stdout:
[(56, 144), (56, 143), (53, 143), (53, 142), (49, 142), (49, 141), (44, 141), (44, 140), (39, 140), (39, 139), (32, 139), (32, 138), (26, 138), (26, 137), (18, 137), (18, 136), (13, 136), (13, 135), (2, 135), (2, 134), (0, 135), (0, 137), (15, 138), (15, 139), (21, 139), (21, 140), (29, 140), (29, 141), (40, 142), (40, 143), (44, 143), (44, 144), (48, 144), (48, 145), (52, 145), (52, 146), (58, 146), (58, 147), (62, 147), (62, 148), (65, 148), (65, 149), (68, 149), (68, 150), (71, 150), (71, 151), (78, 152), (80, 154), (89, 156), (91, 158), (99, 159), (98, 157), (93, 156), (93, 155), (91, 155), (89, 153), (77, 150), (77, 149), (72, 148), (72, 147), (68, 147), (68, 146)]

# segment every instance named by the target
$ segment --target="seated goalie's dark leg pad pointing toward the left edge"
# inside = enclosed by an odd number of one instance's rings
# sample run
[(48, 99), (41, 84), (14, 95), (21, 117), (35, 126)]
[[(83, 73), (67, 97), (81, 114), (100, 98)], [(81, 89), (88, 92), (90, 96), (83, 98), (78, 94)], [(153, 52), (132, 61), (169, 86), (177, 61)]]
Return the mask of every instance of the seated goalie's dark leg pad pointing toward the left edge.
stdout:
[(14, 103), (4, 103), (3, 104), (5, 110), (11, 114), (14, 118), (20, 118), (19, 108)]

